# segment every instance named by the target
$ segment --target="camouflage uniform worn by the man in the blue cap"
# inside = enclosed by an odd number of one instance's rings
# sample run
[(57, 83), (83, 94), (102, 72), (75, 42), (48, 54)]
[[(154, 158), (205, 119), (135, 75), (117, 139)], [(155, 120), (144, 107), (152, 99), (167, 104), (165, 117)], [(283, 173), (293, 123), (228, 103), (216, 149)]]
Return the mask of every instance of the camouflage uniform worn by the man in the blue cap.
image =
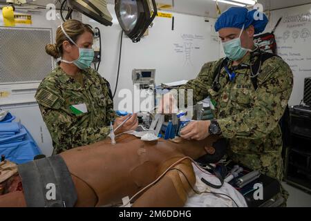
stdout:
[[(249, 64), (249, 57), (247, 55), (243, 59), (245, 64)], [(227, 73), (222, 70), (221, 89), (216, 92), (211, 85), (219, 63), (205, 64), (196, 79), (179, 89), (192, 89), (194, 104), (207, 96), (215, 102), (214, 117), (221, 135), (229, 139), (232, 160), (281, 180), (282, 135), (279, 119), (292, 91), (290, 67), (279, 57), (265, 61), (258, 76), (257, 90), (249, 77), (249, 70), (236, 70), (233, 83), (228, 81)]]

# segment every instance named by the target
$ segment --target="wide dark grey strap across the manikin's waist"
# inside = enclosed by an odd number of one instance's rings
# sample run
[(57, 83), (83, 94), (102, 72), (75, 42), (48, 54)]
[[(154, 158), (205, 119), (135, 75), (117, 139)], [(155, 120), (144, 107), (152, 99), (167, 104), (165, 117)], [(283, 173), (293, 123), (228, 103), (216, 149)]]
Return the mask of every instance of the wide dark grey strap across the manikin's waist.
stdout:
[[(75, 185), (60, 155), (21, 164), (18, 166), (18, 171), (27, 206), (75, 206), (77, 202)], [(53, 198), (53, 189), (55, 189), (55, 198)]]

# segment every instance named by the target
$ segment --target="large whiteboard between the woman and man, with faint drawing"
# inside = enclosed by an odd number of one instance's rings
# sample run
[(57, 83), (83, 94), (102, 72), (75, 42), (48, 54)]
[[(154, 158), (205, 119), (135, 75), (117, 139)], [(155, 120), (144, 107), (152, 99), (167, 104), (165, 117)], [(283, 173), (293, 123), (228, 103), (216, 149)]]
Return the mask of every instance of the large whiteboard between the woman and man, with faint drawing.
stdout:
[[(121, 28), (113, 6), (109, 5), (108, 8), (113, 14), (112, 27), (102, 26), (84, 16), (82, 21), (100, 28), (102, 32), (104, 63), (100, 66), (99, 73), (108, 79), (111, 89), (114, 90)], [(172, 19), (156, 17), (153, 27), (149, 28), (149, 35), (139, 43), (134, 44), (131, 39), (124, 37), (117, 93), (122, 88), (133, 91), (131, 73), (135, 68), (156, 69), (156, 84), (161, 84), (193, 79), (198, 75), (203, 64), (219, 58), (220, 42), (214, 32), (214, 19), (206, 22), (204, 17), (175, 12), (173, 17), (173, 30)], [(120, 99), (115, 97), (115, 108)]]

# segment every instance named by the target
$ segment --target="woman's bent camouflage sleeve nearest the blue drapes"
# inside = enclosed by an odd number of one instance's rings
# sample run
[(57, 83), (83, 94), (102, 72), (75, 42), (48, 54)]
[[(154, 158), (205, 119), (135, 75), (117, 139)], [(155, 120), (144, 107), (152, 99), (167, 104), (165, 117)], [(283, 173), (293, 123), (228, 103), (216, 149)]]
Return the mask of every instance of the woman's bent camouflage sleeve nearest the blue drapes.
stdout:
[(62, 149), (66, 150), (72, 148), (73, 145), (82, 146), (103, 140), (109, 134), (109, 126), (85, 128), (77, 125), (75, 119), (64, 107), (65, 101), (60, 91), (49, 82), (39, 86), (35, 98), (54, 146), (62, 146)]

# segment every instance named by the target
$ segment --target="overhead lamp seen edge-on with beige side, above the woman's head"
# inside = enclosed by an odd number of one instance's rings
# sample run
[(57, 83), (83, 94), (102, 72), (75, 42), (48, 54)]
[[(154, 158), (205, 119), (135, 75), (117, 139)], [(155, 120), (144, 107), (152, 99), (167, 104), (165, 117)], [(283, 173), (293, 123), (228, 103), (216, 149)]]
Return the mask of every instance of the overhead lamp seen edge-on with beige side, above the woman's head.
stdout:
[(72, 10), (77, 10), (91, 19), (103, 24), (111, 26), (113, 18), (107, 8), (106, 0), (67, 0), (71, 11), (66, 19), (70, 17)]

